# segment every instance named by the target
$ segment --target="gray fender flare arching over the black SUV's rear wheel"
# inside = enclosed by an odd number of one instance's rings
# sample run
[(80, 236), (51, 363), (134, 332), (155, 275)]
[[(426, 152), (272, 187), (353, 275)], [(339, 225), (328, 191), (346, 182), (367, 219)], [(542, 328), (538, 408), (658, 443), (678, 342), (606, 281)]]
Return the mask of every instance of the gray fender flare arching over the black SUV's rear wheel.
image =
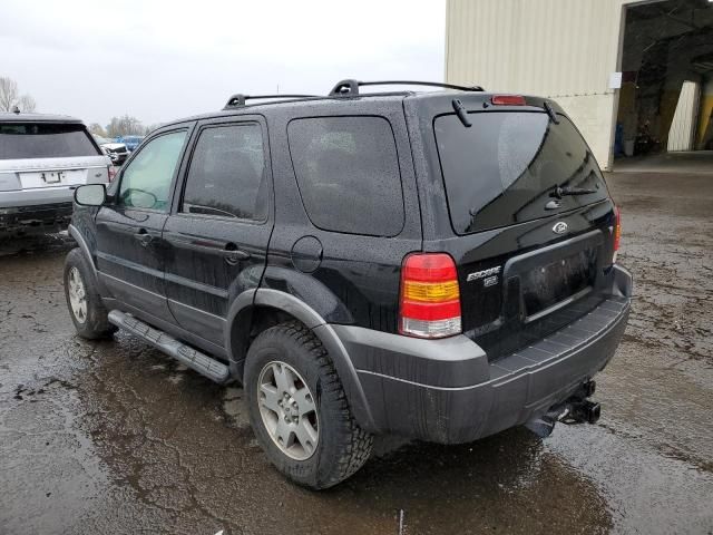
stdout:
[(242, 356), (243, 353), (241, 348), (234, 347), (235, 342), (231, 337), (232, 325), (236, 319), (241, 321), (242, 312), (244, 313), (246, 310), (250, 310), (252, 305), (271, 307), (282, 310), (300, 320), (314, 332), (334, 363), (354, 418), (363, 429), (368, 431), (374, 430), (375, 425), (369, 409), (369, 403), (367, 402), (367, 396), (364, 395), (361, 381), (359, 380), (354, 364), (349, 358), (344, 344), (336, 335), (334, 329), (326, 323), (314, 309), (289, 293), (261, 288), (257, 290), (246, 290), (235, 299), (227, 315), (225, 333), (225, 347), (231, 356), (232, 372), (242, 379), (242, 370), (245, 361), (244, 357), (238, 357), (240, 360), (235, 360), (233, 357), (235, 354)]

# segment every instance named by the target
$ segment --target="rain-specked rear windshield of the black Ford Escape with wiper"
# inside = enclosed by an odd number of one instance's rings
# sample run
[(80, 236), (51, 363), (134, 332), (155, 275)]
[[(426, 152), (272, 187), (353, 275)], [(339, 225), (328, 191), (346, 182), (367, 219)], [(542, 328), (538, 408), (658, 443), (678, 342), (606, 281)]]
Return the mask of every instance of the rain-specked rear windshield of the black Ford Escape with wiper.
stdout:
[[(458, 234), (497, 228), (584, 206), (607, 197), (594, 155), (563, 116), (546, 113), (455, 115), (433, 123), (450, 217)], [(557, 186), (588, 189), (555, 195)]]

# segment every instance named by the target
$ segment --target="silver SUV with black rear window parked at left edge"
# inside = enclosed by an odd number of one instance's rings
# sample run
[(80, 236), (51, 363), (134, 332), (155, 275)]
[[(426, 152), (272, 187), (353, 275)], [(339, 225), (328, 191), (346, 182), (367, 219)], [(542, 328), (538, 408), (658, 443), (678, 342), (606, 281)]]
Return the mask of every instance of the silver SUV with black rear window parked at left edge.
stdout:
[(108, 182), (109, 165), (79, 119), (0, 114), (0, 237), (67, 228), (72, 189)]

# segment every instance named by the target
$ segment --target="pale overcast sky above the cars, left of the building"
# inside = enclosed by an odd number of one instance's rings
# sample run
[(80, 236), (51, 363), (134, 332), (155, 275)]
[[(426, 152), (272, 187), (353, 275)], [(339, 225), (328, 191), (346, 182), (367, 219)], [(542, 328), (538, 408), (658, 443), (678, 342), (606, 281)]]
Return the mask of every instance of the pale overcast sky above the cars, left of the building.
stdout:
[(443, 79), (445, 0), (2, 0), (0, 76), (38, 111), (106, 125), (324, 94), (343, 78)]

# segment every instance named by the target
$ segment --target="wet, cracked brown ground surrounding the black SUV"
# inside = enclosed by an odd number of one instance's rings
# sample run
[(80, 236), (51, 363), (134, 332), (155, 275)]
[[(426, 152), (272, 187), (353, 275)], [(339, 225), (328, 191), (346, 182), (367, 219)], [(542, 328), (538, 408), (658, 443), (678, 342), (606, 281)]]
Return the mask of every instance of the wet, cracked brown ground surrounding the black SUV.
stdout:
[(381, 439), (323, 493), (270, 467), (241, 389), (125, 334), (78, 339), (66, 236), (0, 245), (0, 533), (713, 533), (713, 175), (609, 184), (636, 300), (599, 422)]

